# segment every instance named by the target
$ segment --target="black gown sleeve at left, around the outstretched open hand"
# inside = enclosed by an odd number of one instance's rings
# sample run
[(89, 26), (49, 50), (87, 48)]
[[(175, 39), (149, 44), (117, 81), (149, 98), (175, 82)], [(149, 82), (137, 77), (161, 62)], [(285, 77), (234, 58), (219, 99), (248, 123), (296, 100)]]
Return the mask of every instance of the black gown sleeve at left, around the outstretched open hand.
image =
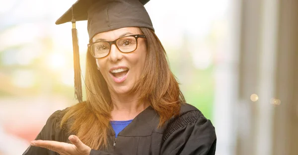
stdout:
[[(65, 140), (64, 131), (60, 129), (60, 116), (61, 110), (55, 111), (47, 120), (40, 133), (37, 135), (35, 140), (49, 140), (63, 142)], [(59, 155), (51, 150), (29, 146), (23, 155)]]

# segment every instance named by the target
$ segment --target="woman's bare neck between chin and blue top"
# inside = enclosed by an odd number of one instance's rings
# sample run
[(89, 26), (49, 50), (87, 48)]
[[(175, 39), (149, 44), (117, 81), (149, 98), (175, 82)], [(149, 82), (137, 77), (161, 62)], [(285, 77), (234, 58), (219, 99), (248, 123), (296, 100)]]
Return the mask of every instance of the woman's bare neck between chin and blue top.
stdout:
[(112, 95), (113, 110), (112, 120), (131, 120), (145, 110), (149, 103), (140, 103), (139, 96), (135, 95)]

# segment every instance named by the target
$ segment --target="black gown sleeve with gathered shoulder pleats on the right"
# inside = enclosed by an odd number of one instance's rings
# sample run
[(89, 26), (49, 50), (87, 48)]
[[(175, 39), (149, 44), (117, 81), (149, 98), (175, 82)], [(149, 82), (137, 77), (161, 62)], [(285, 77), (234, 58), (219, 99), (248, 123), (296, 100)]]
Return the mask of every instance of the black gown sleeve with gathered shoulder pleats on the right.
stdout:
[(160, 155), (215, 155), (216, 133), (199, 110), (174, 119), (163, 136)]

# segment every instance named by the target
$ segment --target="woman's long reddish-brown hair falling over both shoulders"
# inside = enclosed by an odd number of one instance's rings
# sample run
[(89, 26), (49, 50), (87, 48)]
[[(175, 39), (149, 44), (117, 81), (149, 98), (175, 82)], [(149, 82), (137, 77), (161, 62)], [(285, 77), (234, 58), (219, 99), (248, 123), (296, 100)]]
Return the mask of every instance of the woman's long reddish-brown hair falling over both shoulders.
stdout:
[[(159, 114), (160, 127), (179, 114), (185, 99), (157, 36), (148, 28), (140, 29), (147, 38), (146, 67), (132, 91), (141, 92), (140, 103), (148, 101)], [(69, 132), (78, 136), (84, 144), (91, 149), (100, 149), (107, 146), (113, 106), (107, 83), (97, 70), (95, 59), (90, 52), (86, 57), (86, 101), (67, 108), (60, 125), (68, 124)]]

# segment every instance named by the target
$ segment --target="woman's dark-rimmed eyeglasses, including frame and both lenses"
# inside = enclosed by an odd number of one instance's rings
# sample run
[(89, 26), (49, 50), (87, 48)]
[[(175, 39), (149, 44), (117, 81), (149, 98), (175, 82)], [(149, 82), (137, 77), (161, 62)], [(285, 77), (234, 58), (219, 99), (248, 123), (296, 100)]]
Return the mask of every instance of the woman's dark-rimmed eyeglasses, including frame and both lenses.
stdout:
[(114, 41), (100, 41), (88, 44), (88, 49), (94, 58), (103, 58), (109, 55), (111, 46), (116, 45), (120, 52), (134, 52), (138, 48), (138, 38), (146, 39), (145, 35), (131, 35), (118, 38)]

